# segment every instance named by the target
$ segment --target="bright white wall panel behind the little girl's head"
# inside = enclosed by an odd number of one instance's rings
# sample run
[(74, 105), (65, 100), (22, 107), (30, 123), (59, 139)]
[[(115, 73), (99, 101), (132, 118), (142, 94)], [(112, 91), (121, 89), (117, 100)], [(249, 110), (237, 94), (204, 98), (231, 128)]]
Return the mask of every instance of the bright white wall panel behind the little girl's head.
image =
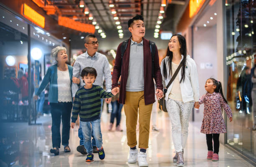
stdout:
[[(208, 78), (218, 78), (218, 61), (217, 61), (217, 26), (194, 29), (194, 60), (197, 64), (199, 75), (200, 96), (206, 93), (205, 81)], [(212, 67), (207, 68), (206, 63), (211, 63)], [(204, 66), (204, 67), (203, 67)], [(200, 110), (195, 110), (195, 121), (202, 122), (203, 105)]]

